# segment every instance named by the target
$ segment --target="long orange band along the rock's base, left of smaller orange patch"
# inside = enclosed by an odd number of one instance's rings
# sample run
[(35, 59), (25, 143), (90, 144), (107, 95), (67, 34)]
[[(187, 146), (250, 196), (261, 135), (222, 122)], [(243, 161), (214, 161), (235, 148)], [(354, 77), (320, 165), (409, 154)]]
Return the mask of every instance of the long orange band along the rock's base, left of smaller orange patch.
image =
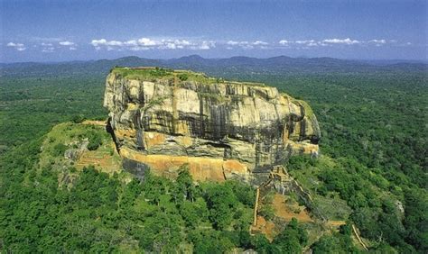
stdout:
[(181, 166), (187, 164), (191, 176), (195, 181), (224, 181), (223, 159), (171, 156), (161, 154), (142, 154), (134, 150), (122, 148), (120, 155), (127, 159), (133, 159), (149, 166), (152, 172), (158, 176), (174, 177)]

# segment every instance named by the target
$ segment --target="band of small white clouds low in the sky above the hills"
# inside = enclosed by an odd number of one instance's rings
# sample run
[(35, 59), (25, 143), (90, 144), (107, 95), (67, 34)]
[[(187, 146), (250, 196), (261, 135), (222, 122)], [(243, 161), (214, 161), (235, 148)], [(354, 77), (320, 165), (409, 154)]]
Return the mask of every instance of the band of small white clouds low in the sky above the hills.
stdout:
[[(55, 41), (49, 39), (40, 41), (29, 41), (25, 44), (18, 41), (9, 41), (6, 47), (17, 50), (41, 50), (42, 52), (51, 53), (55, 50), (78, 50), (78, 43), (74, 41)], [(331, 38), (322, 40), (280, 40), (280, 41), (237, 41), (237, 40), (194, 40), (189, 38), (177, 39), (177, 38), (149, 38), (141, 37), (139, 39), (130, 40), (107, 40), (104, 38), (93, 39), (84, 43), (80, 43), (80, 46), (87, 48), (92, 46), (93, 50), (213, 50), (215, 48), (226, 49), (226, 50), (281, 50), (284, 48), (288, 49), (309, 49), (313, 47), (343, 47), (343, 46), (360, 46), (360, 47), (379, 47), (379, 46), (398, 46), (406, 47), (413, 45), (409, 41), (397, 41), (397, 40), (386, 40), (386, 39), (371, 39), (371, 40), (356, 40), (344, 38)], [(90, 47), (89, 47), (90, 48)]]

